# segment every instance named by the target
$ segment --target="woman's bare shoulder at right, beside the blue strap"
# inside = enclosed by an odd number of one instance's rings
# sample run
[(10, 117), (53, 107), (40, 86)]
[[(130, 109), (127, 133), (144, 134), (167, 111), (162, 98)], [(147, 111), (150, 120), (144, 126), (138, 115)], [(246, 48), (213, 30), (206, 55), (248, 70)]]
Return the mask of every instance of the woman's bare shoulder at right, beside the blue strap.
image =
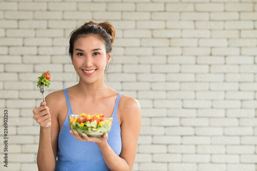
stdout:
[(119, 111), (122, 116), (121, 120), (128, 117), (141, 118), (141, 107), (137, 99), (122, 94), (119, 105), (121, 105)]

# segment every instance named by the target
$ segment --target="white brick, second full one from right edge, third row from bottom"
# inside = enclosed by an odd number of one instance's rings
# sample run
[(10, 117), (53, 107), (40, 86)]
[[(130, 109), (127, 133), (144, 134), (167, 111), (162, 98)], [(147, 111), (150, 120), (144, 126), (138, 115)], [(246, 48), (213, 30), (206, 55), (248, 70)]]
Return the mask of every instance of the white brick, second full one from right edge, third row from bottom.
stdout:
[(196, 146), (197, 153), (201, 154), (224, 154), (225, 147), (218, 146), (218, 145), (197, 145)]

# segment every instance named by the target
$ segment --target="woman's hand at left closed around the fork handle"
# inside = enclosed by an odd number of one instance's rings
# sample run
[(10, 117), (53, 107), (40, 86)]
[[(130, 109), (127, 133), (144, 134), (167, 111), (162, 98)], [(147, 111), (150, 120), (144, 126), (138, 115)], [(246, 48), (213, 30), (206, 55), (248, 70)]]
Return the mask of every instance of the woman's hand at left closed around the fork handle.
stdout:
[(45, 105), (45, 102), (41, 102), (38, 108), (35, 108), (32, 112), (34, 114), (34, 119), (43, 128), (51, 127), (51, 115), (49, 108)]

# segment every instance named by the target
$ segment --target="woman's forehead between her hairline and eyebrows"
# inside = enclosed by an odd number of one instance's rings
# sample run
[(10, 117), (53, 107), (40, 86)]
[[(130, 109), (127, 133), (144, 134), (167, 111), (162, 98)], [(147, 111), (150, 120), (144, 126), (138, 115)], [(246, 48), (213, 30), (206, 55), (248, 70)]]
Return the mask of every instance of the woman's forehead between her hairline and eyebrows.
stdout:
[(79, 48), (84, 51), (91, 51), (96, 48), (101, 48), (102, 50), (105, 49), (103, 41), (95, 36), (79, 37), (74, 42), (74, 48)]

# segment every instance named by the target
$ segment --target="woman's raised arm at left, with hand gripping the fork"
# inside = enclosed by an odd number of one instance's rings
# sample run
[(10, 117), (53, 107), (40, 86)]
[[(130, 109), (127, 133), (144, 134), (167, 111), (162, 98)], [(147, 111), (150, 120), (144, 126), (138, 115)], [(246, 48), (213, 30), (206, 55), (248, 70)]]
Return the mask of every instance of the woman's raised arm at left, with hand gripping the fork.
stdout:
[(55, 98), (53, 95), (49, 94), (45, 97), (46, 103), (41, 102), (41, 106), (33, 110), (34, 119), (40, 124), (39, 148), (37, 154), (37, 165), (39, 171), (55, 170), (59, 123), (57, 109), (56, 106), (54, 107), (54, 101)]

